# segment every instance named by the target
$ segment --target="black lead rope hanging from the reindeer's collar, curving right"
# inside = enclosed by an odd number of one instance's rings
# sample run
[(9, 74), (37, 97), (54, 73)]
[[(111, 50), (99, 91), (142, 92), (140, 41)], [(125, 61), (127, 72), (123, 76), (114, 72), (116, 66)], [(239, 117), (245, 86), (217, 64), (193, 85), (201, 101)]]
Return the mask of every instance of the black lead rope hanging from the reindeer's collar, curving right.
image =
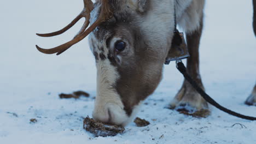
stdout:
[(225, 107), (219, 105), (215, 100), (213, 100), (207, 93), (205, 93), (205, 91), (202, 90), (201, 87), (199, 87), (197, 85), (197, 83), (190, 77), (190, 75), (187, 73), (187, 69), (185, 67), (185, 65), (182, 63), (182, 61), (176, 61), (176, 67), (177, 69), (183, 74), (183, 76), (185, 77), (185, 79), (196, 89), (196, 91), (201, 94), (201, 96), (203, 97), (203, 99), (205, 99), (208, 103), (210, 103), (211, 105), (217, 107), (217, 109), (222, 110), (226, 113), (229, 113), (232, 116), (235, 117), (240, 117), (243, 119), (248, 119), (248, 120), (252, 120), (255, 121), (256, 117), (250, 117), (250, 116), (245, 116), (245, 115), (241, 115), (240, 113), (231, 111), (229, 109), (226, 109)]

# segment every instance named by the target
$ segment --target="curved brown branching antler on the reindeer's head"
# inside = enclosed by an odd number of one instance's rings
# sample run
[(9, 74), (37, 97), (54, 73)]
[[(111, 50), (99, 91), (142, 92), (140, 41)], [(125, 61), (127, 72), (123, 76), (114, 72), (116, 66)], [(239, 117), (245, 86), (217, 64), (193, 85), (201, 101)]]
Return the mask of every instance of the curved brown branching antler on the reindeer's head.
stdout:
[(64, 32), (66, 32), (69, 28), (74, 26), (75, 23), (77, 23), (77, 21), (79, 21), (82, 17), (85, 17), (85, 22), (84, 22), (83, 27), (80, 29), (79, 33), (74, 37), (73, 40), (68, 41), (67, 43), (62, 44), (60, 46), (54, 47), (53, 49), (42, 49), (38, 45), (36, 45), (38, 51), (46, 53), (46, 54), (57, 53), (57, 55), (60, 55), (62, 52), (69, 49), (69, 47), (71, 47), (72, 45), (74, 45), (74, 44), (78, 43), (79, 41), (81, 41), (82, 39), (84, 39), (98, 25), (100, 25), (100, 23), (107, 21), (112, 16), (112, 11), (110, 10), (108, 0), (102, 0), (101, 4), (102, 4), (101, 12), (100, 12), (98, 19), (88, 29), (86, 29), (86, 28), (88, 27), (88, 25), (90, 23), (90, 13), (91, 13), (92, 9), (94, 8), (94, 5), (91, 0), (84, 0), (83, 11), (77, 17), (75, 17), (75, 19), (71, 23), (69, 23), (68, 26), (66, 26), (65, 28), (63, 28), (57, 32), (48, 33), (48, 34), (37, 34), (40, 37), (53, 37), (55, 35), (62, 34)]

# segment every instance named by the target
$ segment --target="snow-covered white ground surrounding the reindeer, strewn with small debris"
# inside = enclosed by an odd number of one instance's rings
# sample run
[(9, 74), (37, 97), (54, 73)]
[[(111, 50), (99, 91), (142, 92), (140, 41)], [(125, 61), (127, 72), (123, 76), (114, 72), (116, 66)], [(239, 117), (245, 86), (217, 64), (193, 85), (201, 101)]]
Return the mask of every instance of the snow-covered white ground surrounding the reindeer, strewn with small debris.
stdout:
[[(256, 122), (229, 116), (215, 108), (208, 118), (193, 118), (164, 109), (183, 78), (174, 63), (165, 67), (159, 88), (124, 134), (94, 137), (83, 129), (91, 116), (92, 98), (59, 99), (59, 93), (84, 90), (95, 97), (96, 68), (85, 39), (61, 56), (43, 55), (35, 45), (50, 48), (71, 39), (82, 25), (56, 38), (35, 33), (62, 28), (83, 8), (81, 1), (4, 1), (0, 8), (0, 143), (256, 143)], [(256, 40), (252, 1), (207, 1), (201, 40), (201, 76), (207, 93), (231, 110), (256, 116), (243, 104), (256, 79)], [(12, 113), (16, 113), (13, 115)], [(36, 118), (37, 123), (30, 123)], [(240, 125), (231, 125), (241, 123)]]

